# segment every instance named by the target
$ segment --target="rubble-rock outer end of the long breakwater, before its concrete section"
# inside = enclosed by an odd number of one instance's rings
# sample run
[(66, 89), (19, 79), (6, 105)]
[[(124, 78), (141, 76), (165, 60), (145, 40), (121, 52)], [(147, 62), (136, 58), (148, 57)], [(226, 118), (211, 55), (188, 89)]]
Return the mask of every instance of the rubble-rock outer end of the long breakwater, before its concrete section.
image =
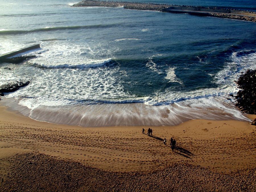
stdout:
[(72, 7), (123, 7), (124, 9), (164, 11), (169, 6), (170, 5), (166, 5), (166, 4), (83, 0), (77, 4), (74, 4)]

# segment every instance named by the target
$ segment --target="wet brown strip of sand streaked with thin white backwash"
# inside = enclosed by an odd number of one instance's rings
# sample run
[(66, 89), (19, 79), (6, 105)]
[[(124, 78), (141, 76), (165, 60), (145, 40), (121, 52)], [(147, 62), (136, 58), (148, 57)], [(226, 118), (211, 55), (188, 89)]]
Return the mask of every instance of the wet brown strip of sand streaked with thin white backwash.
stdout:
[(38, 121), (81, 127), (176, 126), (192, 119), (250, 121), (232, 103), (216, 98), (160, 106), (144, 103), (33, 106), (30, 98), (3, 98), (0, 106)]

